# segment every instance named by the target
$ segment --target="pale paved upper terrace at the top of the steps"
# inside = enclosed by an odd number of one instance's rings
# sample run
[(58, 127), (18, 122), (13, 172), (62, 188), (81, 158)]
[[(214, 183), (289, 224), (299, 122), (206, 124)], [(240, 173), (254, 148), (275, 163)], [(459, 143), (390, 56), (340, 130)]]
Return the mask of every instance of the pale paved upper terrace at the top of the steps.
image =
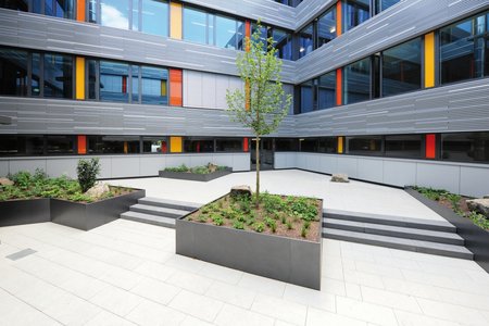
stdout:
[[(444, 221), (402, 189), (362, 181), (330, 183), (330, 176), (300, 170), (261, 173), (261, 189), (272, 193), (313, 196), (324, 199), (327, 209)], [(255, 173), (234, 173), (209, 183), (168, 178), (137, 178), (108, 181), (146, 189), (149, 197), (197, 203), (210, 202), (236, 185), (254, 189)]]

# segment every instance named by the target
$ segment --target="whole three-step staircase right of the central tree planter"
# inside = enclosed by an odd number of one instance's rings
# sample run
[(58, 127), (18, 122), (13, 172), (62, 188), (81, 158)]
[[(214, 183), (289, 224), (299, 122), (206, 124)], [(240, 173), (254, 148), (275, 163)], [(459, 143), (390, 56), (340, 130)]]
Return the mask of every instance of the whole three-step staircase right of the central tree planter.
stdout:
[(325, 210), (323, 238), (473, 260), (456, 228), (444, 221)]

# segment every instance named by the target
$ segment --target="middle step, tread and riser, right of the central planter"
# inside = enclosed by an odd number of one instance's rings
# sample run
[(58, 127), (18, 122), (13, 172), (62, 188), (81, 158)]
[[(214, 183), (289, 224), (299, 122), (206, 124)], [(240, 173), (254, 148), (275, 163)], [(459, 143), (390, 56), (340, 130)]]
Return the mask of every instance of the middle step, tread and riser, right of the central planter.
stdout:
[(398, 237), (404, 239), (423, 240), (429, 242), (464, 246), (464, 239), (457, 234), (435, 231), (412, 227), (391, 226), (384, 224), (363, 223), (347, 220), (324, 218), (323, 227), (344, 229), (355, 233), (365, 233), (380, 236)]

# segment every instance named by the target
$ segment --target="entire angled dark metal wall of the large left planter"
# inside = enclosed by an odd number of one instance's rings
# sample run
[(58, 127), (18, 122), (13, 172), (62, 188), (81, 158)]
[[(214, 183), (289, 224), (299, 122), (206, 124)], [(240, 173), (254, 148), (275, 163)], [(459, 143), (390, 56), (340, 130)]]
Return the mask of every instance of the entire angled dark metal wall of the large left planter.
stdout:
[(0, 201), (0, 226), (53, 222), (89, 230), (117, 220), (145, 193), (145, 190), (136, 189), (92, 203), (49, 198)]

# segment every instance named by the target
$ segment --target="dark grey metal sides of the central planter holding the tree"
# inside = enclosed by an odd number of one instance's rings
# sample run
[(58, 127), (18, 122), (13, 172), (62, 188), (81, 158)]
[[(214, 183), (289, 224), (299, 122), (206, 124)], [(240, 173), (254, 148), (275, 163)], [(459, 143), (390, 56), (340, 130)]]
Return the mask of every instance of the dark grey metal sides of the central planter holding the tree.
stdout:
[(177, 254), (321, 289), (321, 236), (310, 241), (188, 221), (197, 211), (176, 220)]

